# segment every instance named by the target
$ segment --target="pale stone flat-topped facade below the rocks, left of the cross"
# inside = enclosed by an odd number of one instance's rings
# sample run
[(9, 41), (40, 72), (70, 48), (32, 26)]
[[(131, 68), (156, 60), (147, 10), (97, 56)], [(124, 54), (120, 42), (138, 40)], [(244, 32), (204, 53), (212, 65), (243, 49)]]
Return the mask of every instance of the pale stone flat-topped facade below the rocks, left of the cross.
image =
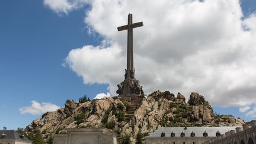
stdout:
[(53, 144), (117, 144), (116, 133), (105, 128), (66, 129), (56, 134)]

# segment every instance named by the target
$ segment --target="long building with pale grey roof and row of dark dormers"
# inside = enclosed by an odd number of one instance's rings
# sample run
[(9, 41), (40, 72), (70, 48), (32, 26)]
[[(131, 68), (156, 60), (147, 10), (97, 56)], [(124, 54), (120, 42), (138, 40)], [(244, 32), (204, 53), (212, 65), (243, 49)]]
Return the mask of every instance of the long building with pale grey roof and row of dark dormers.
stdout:
[(146, 144), (199, 144), (236, 127), (161, 127), (149, 136)]

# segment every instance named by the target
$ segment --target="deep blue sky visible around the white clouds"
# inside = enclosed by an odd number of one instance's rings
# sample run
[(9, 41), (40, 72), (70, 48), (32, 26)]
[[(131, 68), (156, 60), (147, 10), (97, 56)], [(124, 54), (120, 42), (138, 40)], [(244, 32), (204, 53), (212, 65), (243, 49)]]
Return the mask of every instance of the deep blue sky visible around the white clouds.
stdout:
[[(251, 15), (256, 1), (244, 0), (241, 7), (245, 16)], [(97, 30), (95, 35), (88, 34), (89, 24), (84, 18), (89, 10), (91, 5), (85, 5), (66, 14), (43, 1), (0, 1), (0, 128), (17, 129), (40, 118), (40, 114), (19, 111), (33, 100), (63, 107), (68, 99), (79, 100), (84, 94), (94, 98), (109, 91), (107, 82), (87, 82), (72, 66), (63, 66), (72, 49), (97, 47), (107, 37)], [(214, 111), (253, 119), (239, 113), (237, 105), (216, 105)]]

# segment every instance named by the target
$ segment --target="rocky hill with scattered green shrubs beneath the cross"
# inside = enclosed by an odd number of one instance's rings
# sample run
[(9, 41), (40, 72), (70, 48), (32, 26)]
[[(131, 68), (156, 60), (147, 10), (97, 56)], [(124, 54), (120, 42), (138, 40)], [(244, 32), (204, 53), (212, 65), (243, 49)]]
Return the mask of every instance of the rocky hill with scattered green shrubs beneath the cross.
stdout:
[(107, 127), (119, 137), (131, 135), (135, 143), (137, 133), (144, 136), (160, 127), (172, 126), (242, 126), (244, 120), (213, 114), (213, 108), (202, 95), (192, 92), (186, 103), (184, 95), (175, 97), (169, 91), (155, 91), (146, 98), (105, 97), (77, 103), (67, 100), (64, 108), (47, 112), (33, 120), (27, 132), (40, 130), (44, 139), (65, 128)]

